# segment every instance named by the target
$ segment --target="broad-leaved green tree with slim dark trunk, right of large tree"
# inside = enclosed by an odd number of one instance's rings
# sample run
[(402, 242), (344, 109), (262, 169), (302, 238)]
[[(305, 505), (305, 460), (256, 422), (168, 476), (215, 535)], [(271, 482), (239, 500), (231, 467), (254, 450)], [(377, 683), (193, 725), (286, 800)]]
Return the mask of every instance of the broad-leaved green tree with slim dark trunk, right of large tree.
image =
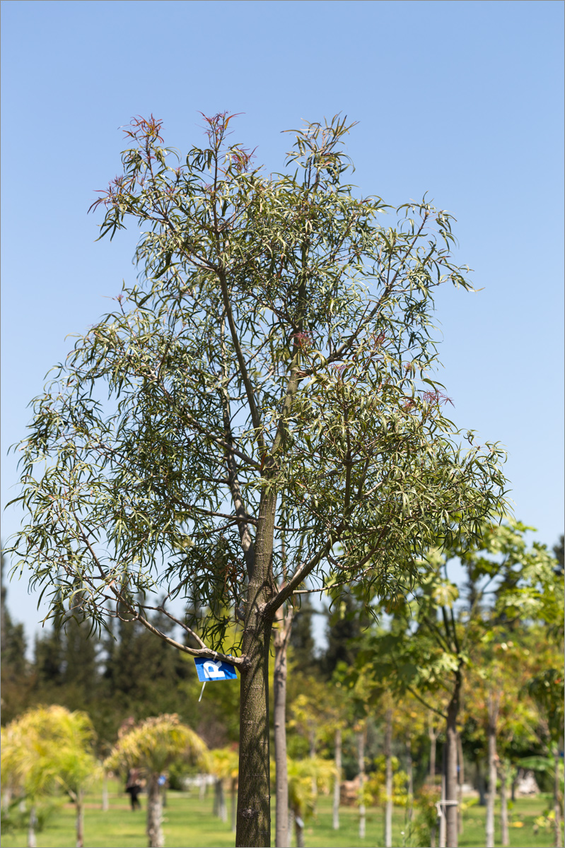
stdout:
[[(372, 668), (377, 681), (394, 680), (398, 693), (411, 692), (435, 713), (442, 711), (425, 700), (426, 693), (447, 695), (443, 800), (451, 846), (458, 842), (458, 722), (473, 645), (504, 642), (522, 618), (544, 620), (552, 628), (562, 621), (562, 582), (555, 560), (543, 544), (534, 542), (528, 550), (524, 534), (530, 529), (512, 519), (501, 525), (489, 522), (475, 544), (462, 539), (445, 545), (443, 552), (429, 550), (412, 594), (406, 586), (382, 605), (394, 616), (393, 626), (388, 633), (374, 634), (358, 658), (364, 675)], [(455, 557), (467, 567), (472, 589), (458, 608), (459, 589), (447, 568)]]

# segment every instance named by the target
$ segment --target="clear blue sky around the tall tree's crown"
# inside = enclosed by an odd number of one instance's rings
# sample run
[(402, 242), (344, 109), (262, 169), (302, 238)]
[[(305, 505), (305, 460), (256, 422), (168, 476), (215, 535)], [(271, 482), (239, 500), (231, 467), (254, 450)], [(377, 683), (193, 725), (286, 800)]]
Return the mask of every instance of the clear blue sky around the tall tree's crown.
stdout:
[[(437, 300), (462, 427), (506, 445), (515, 513), (563, 530), (562, 25), (557, 0), (64, 0), (2, 3), (2, 494), (8, 445), (48, 369), (133, 279), (135, 234), (94, 243), (94, 190), (120, 126), (202, 142), (199, 110), (242, 112), (234, 140), (282, 168), (284, 129), (343, 112), (354, 181), (390, 204), (424, 192), (458, 220), (478, 294)], [(3, 513), (3, 539), (20, 514)], [(40, 616), (23, 581), (8, 606)]]

